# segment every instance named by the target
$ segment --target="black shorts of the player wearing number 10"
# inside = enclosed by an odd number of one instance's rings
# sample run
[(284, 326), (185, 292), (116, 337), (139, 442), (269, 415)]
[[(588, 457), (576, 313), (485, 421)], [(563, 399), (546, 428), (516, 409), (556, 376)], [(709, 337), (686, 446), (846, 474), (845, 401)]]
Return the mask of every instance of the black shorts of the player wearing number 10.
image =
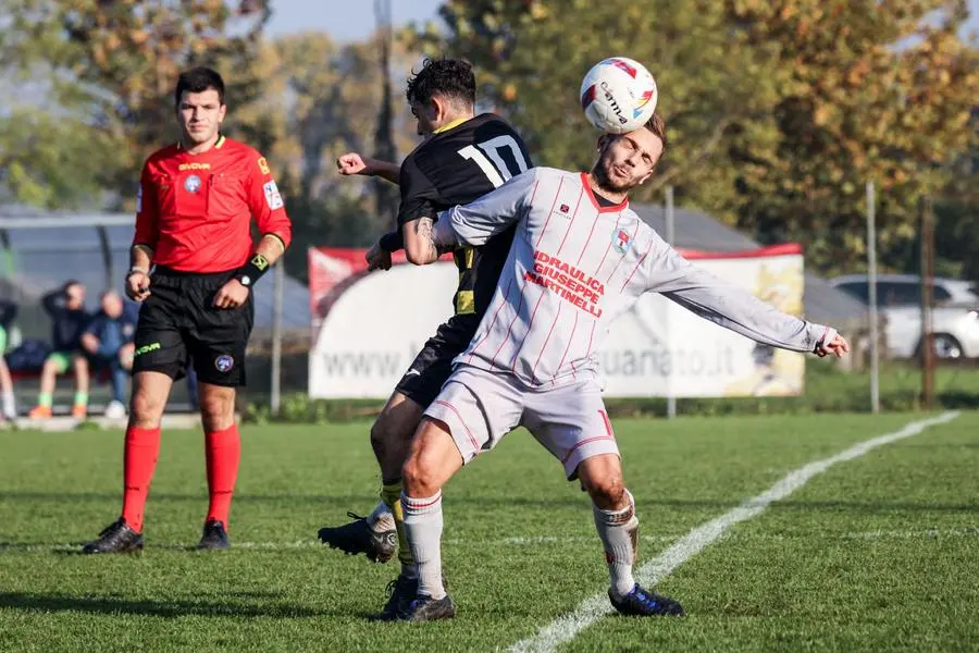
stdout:
[(425, 342), (395, 390), (419, 406), (427, 407), (453, 373), (453, 359), (466, 350), (479, 325), (474, 315), (449, 318)]

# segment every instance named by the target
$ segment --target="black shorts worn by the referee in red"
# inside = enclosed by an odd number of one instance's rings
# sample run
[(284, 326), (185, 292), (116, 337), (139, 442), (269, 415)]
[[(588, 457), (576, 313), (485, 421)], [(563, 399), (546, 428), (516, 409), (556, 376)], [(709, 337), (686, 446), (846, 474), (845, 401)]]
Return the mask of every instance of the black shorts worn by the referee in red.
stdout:
[(237, 308), (216, 308), (214, 295), (235, 271), (201, 274), (157, 267), (139, 309), (133, 373), (181, 379), (188, 362), (203, 383), (245, 385), (245, 348), (255, 323), (252, 294)]

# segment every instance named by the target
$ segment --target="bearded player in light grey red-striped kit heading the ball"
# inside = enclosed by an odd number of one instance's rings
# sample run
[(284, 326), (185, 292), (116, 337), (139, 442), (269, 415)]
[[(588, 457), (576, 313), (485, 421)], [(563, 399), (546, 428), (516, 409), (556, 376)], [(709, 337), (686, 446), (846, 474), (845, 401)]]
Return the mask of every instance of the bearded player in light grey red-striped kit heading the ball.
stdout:
[(587, 174), (537, 168), (441, 214), (437, 245), (480, 245), (517, 223), (496, 294), (425, 417), (402, 469), (401, 503), (419, 569), (401, 618), (451, 617), (442, 584), (442, 486), (478, 454), (524, 426), (579, 478), (605, 546), (612, 606), (627, 615), (679, 615), (677, 601), (632, 575), (639, 520), (600, 396), (596, 350), (611, 322), (647, 292), (757, 342), (819, 356), (850, 346), (837, 331), (782, 313), (692, 266), (629, 208), (653, 173), (662, 121), (598, 140)]

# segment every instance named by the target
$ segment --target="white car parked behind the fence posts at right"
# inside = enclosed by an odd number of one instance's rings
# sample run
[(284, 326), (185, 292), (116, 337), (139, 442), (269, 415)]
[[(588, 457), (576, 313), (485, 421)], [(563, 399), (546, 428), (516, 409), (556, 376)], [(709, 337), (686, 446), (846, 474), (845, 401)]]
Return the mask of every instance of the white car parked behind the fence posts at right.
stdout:
[[(830, 284), (869, 304), (866, 274), (850, 274)], [(934, 279), (932, 325), (939, 358), (979, 357), (979, 294), (968, 281)], [(880, 274), (877, 306), (884, 317), (888, 355), (913, 358), (921, 345), (921, 280), (915, 274)]]

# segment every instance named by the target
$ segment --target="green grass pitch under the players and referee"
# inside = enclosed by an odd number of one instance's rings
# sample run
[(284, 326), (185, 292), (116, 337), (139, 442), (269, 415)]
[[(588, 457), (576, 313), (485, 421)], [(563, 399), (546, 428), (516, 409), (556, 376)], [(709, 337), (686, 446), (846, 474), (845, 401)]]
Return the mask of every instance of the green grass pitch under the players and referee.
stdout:
[[(618, 420), (641, 562), (803, 465), (920, 416)], [(448, 485), (459, 616), (364, 619), (396, 563), (321, 546), (376, 496), (368, 424), (245, 427), (235, 549), (193, 551), (202, 436), (166, 432), (137, 556), (75, 552), (119, 513), (122, 434), (0, 433), (0, 651), (494, 651), (608, 577), (588, 502), (525, 432)], [(609, 616), (561, 651), (975, 651), (979, 415), (842, 463), (732, 527), (658, 590), (683, 619)]]

